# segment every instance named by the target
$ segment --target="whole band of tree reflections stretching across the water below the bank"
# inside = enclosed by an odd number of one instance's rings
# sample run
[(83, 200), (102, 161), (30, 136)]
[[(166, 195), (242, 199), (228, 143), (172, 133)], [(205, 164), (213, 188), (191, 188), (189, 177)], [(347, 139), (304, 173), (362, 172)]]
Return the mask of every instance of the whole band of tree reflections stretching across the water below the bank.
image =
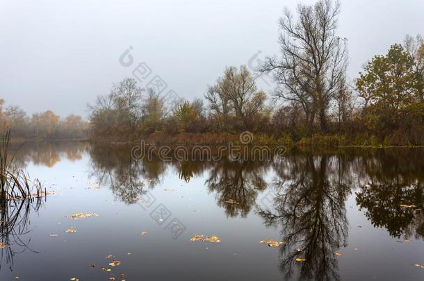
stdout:
[[(285, 241), (280, 265), (286, 278), (340, 279), (334, 253), (347, 243), (345, 201), (352, 192), (376, 227), (385, 228), (393, 237), (424, 239), (422, 150), (296, 151), (271, 162), (227, 158), (162, 162), (134, 161), (129, 146), (38, 144), (25, 149), (17, 162), (48, 167), (63, 155), (73, 161), (89, 153), (91, 176), (127, 204), (136, 203), (147, 189), (160, 185), (168, 171), (175, 171), (186, 182), (207, 173), (204, 184), (228, 217), (247, 217), (259, 194), (268, 192), (266, 189), (275, 191), (271, 208), (256, 207), (265, 225), (280, 229)], [(269, 171), (276, 176), (270, 184), (265, 178)], [(10, 235), (5, 234), (10, 231), (4, 230), (2, 226), (2, 237), (8, 239)], [(296, 262), (297, 257), (306, 261)]]

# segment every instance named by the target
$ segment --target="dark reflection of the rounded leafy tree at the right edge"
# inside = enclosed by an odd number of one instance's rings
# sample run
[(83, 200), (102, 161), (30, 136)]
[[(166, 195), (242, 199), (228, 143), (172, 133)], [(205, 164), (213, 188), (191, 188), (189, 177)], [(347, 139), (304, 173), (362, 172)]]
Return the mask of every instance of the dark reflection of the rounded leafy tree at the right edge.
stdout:
[(424, 239), (423, 151), (383, 152), (363, 167), (356, 200), (371, 223), (393, 237)]

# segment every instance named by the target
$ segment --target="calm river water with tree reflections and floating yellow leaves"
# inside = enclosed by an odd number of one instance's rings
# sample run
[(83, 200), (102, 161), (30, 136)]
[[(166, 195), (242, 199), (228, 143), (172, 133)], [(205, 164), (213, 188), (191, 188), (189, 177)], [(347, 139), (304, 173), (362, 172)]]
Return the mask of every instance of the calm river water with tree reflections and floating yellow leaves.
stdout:
[(2, 281), (424, 280), (421, 149), (163, 162), (54, 142), (15, 164), (49, 195), (8, 210)]

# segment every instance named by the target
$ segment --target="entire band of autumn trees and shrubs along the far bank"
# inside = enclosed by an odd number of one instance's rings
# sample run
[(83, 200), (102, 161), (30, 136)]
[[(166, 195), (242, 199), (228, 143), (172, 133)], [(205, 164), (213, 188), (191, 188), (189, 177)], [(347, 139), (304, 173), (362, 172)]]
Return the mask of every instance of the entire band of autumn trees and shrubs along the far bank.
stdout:
[[(27, 117), (3, 108), (0, 121), (14, 139), (84, 139), (93, 143), (238, 143), (318, 147), (424, 146), (424, 37), (407, 35), (371, 58), (357, 78), (347, 75), (348, 40), (338, 34), (339, 1), (320, 0), (285, 10), (279, 20), (280, 53), (254, 73), (226, 67), (202, 98), (185, 101), (141, 87), (136, 78), (114, 83), (88, 105), (89, 118), (64, 119), (48, 110)], [(275, 26), (270, 26), (275, 28)], [(272, 54), (270, 54), (272, 55)], [(259, 76), (275, 83), (266, 93)]]

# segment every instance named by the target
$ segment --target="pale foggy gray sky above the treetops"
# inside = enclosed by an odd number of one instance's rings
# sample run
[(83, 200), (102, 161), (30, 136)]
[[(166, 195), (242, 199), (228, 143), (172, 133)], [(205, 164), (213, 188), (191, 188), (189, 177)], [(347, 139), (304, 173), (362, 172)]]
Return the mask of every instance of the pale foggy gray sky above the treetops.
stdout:
[[(313, 1), (302, 1), (313, 3)], [(298, 0), (0, 0), (0, 97), (28, 114), (86, 116), (146, 62), (179, 96), (202, 96), (229, 65), (278, 52), (277, 22)], [(424, 33), (423, 0), (344, 0), (350, 78), (405, 35)], [(133, 46), (134, 64), (120, 55)]]

